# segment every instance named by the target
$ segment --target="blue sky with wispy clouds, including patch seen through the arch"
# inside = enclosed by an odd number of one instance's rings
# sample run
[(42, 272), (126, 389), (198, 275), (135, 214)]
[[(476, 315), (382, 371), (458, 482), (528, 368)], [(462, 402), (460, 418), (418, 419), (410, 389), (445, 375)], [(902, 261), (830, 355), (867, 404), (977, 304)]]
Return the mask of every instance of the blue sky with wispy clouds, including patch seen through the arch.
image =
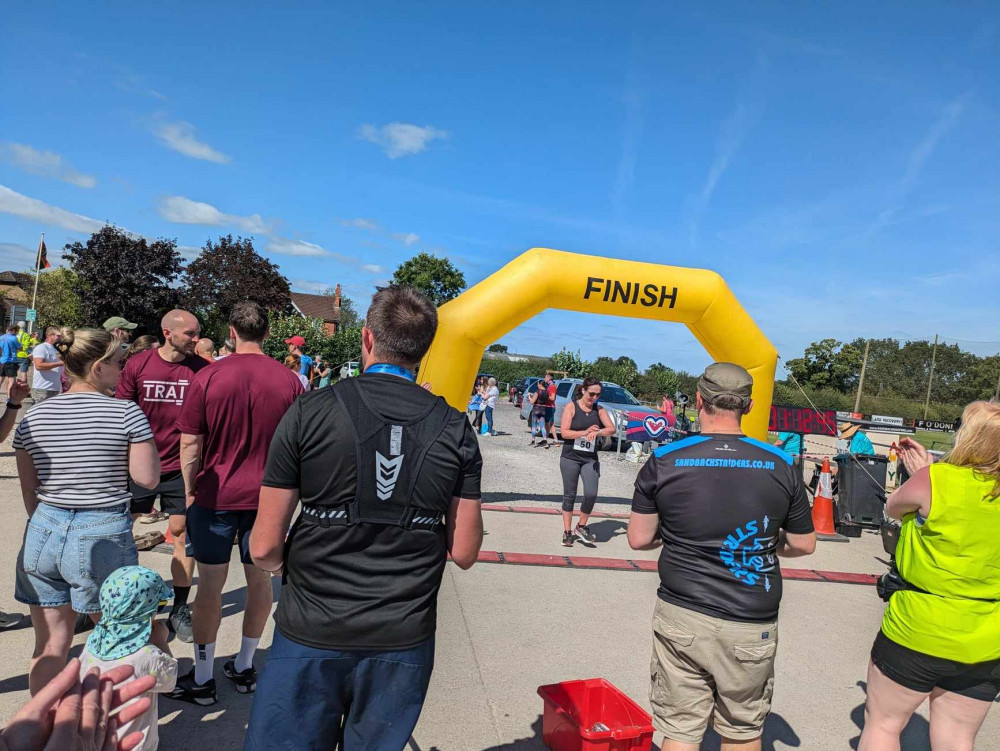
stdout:
[[(714, 269), (784, 357), (1000, 340), (1000, 8), (814, 5), (10, 5), (0, 269), (107, 220), (362, 300), (420, 250), (474, 283), (547, 246)], [(708, 360), (562, 311), (503, 341)]]

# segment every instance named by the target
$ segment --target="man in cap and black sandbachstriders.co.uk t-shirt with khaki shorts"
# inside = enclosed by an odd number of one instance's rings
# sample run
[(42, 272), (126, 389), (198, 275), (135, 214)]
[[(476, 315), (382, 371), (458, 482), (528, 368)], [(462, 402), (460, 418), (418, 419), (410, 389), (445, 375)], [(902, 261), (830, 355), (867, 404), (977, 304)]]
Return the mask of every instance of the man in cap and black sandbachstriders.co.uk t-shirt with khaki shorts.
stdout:
[(696, 748), (714, 716), (724, 748), (760, 749), (778, 646), (777, 556), (816, 548), (791, 457), (740, 428), (752, 387), (740, 366), (710, 365), (698, 381), (701, 434), (655, 451), (635, 482), (629, 545), (663, 545), (650, 703), (678, 744), (669, 748)]

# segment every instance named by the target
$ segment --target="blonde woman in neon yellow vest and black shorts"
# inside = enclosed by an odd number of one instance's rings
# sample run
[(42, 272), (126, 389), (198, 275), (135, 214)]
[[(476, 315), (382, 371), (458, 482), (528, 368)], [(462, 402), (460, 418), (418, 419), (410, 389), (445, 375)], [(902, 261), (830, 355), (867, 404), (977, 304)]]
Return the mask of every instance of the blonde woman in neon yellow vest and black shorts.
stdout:
[(899, 749), (929, 696), (933, 749), (972, 751), (1000, 695), (1000, 404), (973, 402), (932, 464), (905, 441), (911, 478), (886, 505), (903, 520), (898, 577), (868, 666), (858, 751)]

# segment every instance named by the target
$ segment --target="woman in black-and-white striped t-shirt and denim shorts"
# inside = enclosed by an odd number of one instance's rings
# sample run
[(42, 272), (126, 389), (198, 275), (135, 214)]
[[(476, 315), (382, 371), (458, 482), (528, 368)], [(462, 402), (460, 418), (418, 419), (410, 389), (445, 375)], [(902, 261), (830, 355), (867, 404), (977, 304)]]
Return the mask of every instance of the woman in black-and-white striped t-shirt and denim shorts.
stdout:
[(32, 407), (14, 434), (28, 512), (14, 597), (31, 607), (34, 695), (66, 665), (76, 613), (98, 619), (104, 579), (139, 556), (128, 479), (154, 488), (160, 459), (135, 402), (107, 396), (121, 377), (122, 348), (101, 329), (56, 345), (69, 375), (65, 394)]

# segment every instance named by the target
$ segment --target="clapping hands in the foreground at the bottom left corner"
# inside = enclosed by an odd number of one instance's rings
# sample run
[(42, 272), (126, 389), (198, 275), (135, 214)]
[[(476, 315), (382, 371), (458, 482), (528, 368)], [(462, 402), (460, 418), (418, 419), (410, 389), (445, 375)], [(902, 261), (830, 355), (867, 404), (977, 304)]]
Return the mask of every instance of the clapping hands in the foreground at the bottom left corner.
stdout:
[(142, 733), (119, 740), (118, 726), (149, 709), (150, 699), (124, 705), (156, 686), (148, 675), (115, 688), (133, 672), (131, 665), (103, 675), (93, 671), (81, 684), (80, 661), (70, 660), (0, 731), (0, 751), (131, 751), (142, 742)]

